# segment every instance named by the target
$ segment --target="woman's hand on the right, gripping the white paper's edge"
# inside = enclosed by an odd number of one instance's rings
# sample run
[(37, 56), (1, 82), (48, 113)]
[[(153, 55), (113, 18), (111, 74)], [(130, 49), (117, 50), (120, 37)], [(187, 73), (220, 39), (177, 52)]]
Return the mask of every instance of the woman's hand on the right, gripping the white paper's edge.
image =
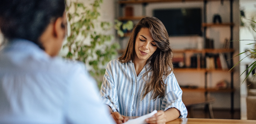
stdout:
[(149, 124), (165, 124), (166, 115), (162, 110), (157, 111), (151, 118), (145, 120)]

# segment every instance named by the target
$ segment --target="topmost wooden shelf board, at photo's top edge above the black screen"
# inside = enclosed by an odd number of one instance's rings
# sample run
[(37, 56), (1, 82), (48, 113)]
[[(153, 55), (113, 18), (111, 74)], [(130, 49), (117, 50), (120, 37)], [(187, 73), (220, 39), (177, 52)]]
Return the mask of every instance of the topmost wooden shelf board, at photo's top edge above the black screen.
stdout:
[[(189, 2), (189, 1), (204, 1), (204, 0), (118, 0), (119, 4), (140, 4), (140, 3), (161, 3), (161, 2)], [(221, 0), (208, 0), (221, 1)]]

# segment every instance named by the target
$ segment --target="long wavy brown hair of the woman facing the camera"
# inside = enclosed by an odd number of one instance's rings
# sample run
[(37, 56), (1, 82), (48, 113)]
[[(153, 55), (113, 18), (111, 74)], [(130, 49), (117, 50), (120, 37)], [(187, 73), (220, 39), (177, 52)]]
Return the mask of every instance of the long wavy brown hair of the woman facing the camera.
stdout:
[(134, 55), (136, 54), (134, 50), (135, 41), (141, 28), (148, 28), (150, 30), (150, 34), (157, 46), (157, 50), (146, 61), (146, 64), (150, 63), (151, 69), (147, 70), (146, 73), (143, 74), (143, 79), (150, 71), (152, 71), (152, 77), (149, 81), (147, 80), (146, 86), (143, 89), (143, 91), (145, 91), (143, 93), (143, 99), (150, 91), (153, 91), (151, 99), (156, 99), (157, 97), (163, 98), (165, 96), (166, 86), (163, 79), (167, 78), (167, 76), (173, 71), (173, 53), (169, 43), (169, 35), (165, 26), (159, 19), (156, 17), (145, 17), (142, 18), (136, 26), (134, 26), (126, 51), (119, 57), (119, 61), (127, 63), (134, 58)]

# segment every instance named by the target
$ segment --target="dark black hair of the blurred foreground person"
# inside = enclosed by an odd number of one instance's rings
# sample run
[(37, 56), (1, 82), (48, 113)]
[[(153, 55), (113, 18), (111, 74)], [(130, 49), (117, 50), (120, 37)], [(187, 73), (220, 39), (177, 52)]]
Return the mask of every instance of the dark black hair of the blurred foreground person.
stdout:
[(1, 0), (1, 32), (7, 39), (27, 39), (44, 49), (39, 37), (51, 21), (63, 16), (65, 7), (65, 0)]

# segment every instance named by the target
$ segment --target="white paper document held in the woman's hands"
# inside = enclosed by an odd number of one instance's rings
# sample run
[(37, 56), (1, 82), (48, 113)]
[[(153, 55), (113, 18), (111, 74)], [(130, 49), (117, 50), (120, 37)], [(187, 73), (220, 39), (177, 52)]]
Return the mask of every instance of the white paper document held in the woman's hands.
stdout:
[(128, 120), (127, 122), (125, 122), (123, 124), (147, 124), (147, 122), (145, 120), (147, 118), (151, 118), (155, 113), (157, 113), (157, 110), (154, 110), (151, 113), (141, 116), (139, 118)]

